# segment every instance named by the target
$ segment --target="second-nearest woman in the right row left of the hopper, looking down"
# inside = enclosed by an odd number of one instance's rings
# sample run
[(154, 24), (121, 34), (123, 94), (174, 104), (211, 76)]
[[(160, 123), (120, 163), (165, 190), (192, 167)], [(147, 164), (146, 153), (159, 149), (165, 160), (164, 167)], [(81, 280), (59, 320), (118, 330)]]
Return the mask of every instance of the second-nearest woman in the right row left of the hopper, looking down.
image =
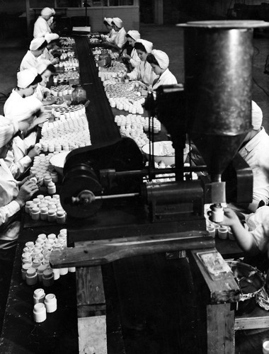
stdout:
[(151, 53), (153, 44), (148, 40), (137, 40), (135, 42), (135, 50), (140, 59), (140, 64), (135, 69), (127, 74), (130, 80), (141, 81), (142, 85), (150, 86), (157, 78), (156, 74), (151, 69), (151, 65), (147, 62), (147, 55)]

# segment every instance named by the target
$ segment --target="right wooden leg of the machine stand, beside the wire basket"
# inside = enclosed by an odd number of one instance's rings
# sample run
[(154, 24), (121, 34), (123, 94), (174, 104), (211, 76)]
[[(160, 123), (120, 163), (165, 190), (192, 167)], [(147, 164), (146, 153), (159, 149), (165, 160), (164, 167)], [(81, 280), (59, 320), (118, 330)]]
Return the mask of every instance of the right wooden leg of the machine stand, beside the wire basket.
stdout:
[(207, 354), (234, 353), (234, 311), (230, 307), (207, 305)]

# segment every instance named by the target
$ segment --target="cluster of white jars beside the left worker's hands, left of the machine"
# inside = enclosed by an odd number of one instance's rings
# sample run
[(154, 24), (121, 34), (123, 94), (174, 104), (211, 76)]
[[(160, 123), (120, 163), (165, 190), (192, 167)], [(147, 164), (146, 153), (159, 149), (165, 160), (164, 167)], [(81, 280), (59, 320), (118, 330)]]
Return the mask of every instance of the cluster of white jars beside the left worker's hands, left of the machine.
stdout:
[[(56, 192), (55, 183), (52, 182), (50, 175), (44, 177), (44, 183), (48, 191)], [(25, 212), (30, 215), (33, 220), (44, 220), (48, 222), (57, 222), (57, 224), (65, 224), (67, 222), (67, 213), (62, 208), (59, 195), (38, 195), (37, 198), (29, 200), (25, 203)]]

